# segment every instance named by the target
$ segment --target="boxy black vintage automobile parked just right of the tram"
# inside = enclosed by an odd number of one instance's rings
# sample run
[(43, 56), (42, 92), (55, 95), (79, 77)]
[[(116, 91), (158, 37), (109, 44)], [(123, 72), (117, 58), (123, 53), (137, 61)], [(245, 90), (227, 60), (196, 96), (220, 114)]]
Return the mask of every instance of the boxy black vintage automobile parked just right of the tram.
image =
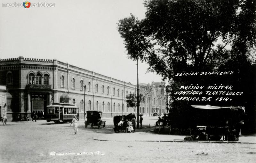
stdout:
[(103, 126), (103, 128), (105, 127), (106, 121), (101, 120), (101, 111), (87, 110), (86, 115), (87, 121), (84, 121), (85, 128), (87, 128), (88, 125), (91, 125), (91, 127), (97, 126), (98, 129), (100, 128), (100, 126)]

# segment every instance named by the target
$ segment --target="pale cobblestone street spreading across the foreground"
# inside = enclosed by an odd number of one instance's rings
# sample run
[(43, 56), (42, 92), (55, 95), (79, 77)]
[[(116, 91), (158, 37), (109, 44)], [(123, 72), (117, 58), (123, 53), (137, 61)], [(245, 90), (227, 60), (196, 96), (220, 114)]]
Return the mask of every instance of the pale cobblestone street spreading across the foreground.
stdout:
[[(144, 117), (143, 134), (157, 117)], [(106, 127), (84, 128), (78, 122), (78, 134), (73, 125), (37, 122), (7, 122), (0, 125), (0, 162), (255, 162), (256, 144), (187, 143), (147, 141), (98, 141), (94, 137), (109, 135), (133, 137), (133, 133), (113, 132), (113, 120)], [(158, 134), (152, 134), (158, 137)], [(56, 152), (56, 153), (55, 153)]]

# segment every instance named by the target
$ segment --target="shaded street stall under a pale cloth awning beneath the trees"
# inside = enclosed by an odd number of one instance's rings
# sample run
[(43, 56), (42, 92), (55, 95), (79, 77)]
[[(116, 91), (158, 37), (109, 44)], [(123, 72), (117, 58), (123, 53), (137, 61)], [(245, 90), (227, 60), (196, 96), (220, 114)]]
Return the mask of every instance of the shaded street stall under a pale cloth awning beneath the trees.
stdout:
[(191, 107), (197, 109), (193, 109), (194, 113), (190, 114), (191, 117), (194, 115), (194, 118), (191, 118), (191, 123), (199, 131), (197, 134), (207, 134), (208, 140), (220, 140), (221, 137), (228, 141), (239, 140), (238, 137), (242, 135), (241, 125), (244, 124), (244, 107), (216, 107), (210, 105), (191, 105)]

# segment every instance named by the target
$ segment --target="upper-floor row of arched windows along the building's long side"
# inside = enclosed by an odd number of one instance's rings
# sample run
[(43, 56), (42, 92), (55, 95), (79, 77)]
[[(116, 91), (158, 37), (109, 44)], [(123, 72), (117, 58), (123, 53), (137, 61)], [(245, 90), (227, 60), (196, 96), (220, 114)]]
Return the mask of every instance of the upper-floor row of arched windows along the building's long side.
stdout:
[[(61, 87), (64, 87), (64, 76), (62, 75), (60, 79), (61, 79)], [(72, 82), (72, 89), (75, 89), (75, 78), (72, 78), (71, 82)], [(88, 92), (91, 92), (91, 82), (88, 82), (87, 85), (84, 85), (84, 81), (80, 80), (80, 90), (87, 90), (86, 86), (87, 86)], [(98, 84), (95, 85), (95, 92), (99, 93)], [(104, 85), (101, 85), (101, 93), (104, 94)], [(130, 94), (131, 93), (132, 92), (130, 92)], [(107, 87), (107, 94), (109, 95), (109, 86)], [(122, 94), (122, 97), (124, 97), (124, 90), (122, 90), (121, 94)], [(128, 95), (128, 91), (126, 91), (126, 95)], [(115, 87), (113, 88), (113, 96), (115, 96)], [(117, 96), (118, 97), (120, 96), (119, 89), (117, 89)]]

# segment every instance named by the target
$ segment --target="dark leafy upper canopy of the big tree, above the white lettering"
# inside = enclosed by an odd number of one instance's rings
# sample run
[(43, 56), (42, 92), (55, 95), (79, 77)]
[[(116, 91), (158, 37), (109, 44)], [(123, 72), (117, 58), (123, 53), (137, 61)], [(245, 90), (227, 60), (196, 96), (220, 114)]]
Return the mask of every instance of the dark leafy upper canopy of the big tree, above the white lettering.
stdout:
[[(227, 46), (247, 54), (255, 45), (253, 0), (150, 0), (145, 19), (119, 20), (128, 56), (172, 79), (176, 72), (217, 69)], [(218, 44), (218, 42), (221, 42)]]

